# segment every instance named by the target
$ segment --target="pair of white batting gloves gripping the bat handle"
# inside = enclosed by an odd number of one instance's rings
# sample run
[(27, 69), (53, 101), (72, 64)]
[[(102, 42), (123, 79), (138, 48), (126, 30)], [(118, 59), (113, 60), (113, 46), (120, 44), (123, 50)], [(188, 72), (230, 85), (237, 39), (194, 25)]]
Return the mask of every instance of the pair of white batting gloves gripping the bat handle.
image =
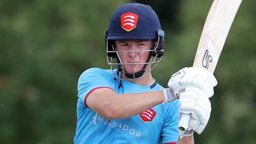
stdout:
[(196, 67), (183, 68), (170, 78), (170, 88), (164, 89), (163, 103), (180, 98), (180, 113), (191, 114), (185, 136), (192, 135), (193, 130), (198, 134), (203, 132), (211, 113), (209, 98), (213, 96), (213, 87), (217, 84), (212, 73)]

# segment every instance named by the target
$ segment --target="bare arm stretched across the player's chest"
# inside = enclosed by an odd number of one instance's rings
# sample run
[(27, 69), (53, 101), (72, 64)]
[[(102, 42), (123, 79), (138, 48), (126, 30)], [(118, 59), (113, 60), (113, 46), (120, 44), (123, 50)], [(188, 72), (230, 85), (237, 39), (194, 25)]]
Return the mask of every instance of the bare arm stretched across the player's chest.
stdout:
[(108, 119), (137, 115), (164, 101), (163, 90), (145, 93), (116, 94), (102, 88), (94, 90), (86, 99), (86, 105)]

